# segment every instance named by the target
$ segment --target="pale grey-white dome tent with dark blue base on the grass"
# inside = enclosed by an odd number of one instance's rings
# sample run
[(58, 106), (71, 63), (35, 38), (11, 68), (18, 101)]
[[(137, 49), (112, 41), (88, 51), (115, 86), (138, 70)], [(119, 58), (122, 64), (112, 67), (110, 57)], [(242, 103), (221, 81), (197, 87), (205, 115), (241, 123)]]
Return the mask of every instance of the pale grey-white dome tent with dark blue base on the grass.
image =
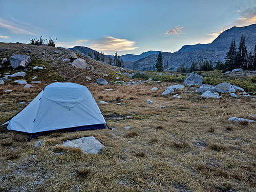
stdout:
[(70, 82), (54, 82), (12, 117), (7, 129), (29, 133), (31, 139), (54, 130), (103, 129), (105, 123), (87, 87)]

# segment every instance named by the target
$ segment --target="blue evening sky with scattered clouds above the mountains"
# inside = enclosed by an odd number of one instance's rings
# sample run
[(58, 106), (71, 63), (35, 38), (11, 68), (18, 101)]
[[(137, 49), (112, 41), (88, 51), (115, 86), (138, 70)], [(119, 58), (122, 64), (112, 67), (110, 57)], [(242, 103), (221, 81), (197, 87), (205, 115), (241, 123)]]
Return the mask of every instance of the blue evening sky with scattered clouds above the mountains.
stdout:
[(0, 0), (0, 41), (57, 38), (105, 54), (178, 51), (256, 23), (256, 0)]

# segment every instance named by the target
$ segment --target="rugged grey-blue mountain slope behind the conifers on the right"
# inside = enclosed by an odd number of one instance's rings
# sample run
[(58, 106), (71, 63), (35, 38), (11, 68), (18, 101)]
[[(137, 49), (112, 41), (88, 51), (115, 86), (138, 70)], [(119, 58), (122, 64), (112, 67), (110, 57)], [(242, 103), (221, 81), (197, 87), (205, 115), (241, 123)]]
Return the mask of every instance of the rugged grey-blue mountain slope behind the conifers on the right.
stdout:
[[(186, 45), (178, 52), (165, 52), (163, 53), (164, 67), (168, 70), (177, 70), (181, 65), (190, 67), (192, 62), (199, 62), (202, 59), (211, 60), (214, 65), (218, 61), (224, 62), (231, 40), (236, 40), (238, 48), (242, 34), (245, 36), (248, 53), (253, 52), (256, 45), (256, 24), (232, 27), (222, 32), (211, 44)], [(132, 64), (129, 63), (125, 67), (133, 70), (155, 70), (156, 58), (157, 55), (150, 55)]]

